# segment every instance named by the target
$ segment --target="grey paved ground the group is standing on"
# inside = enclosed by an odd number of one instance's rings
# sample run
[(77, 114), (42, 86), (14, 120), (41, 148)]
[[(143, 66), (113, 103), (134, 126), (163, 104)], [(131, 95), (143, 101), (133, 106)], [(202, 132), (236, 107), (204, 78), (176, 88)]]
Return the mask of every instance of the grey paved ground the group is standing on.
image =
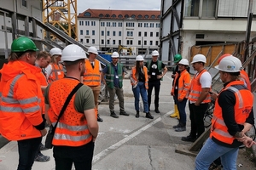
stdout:
[[(195, 157), (175, 152), (176, 144), (190, 146), (191, 143), (181, 141), (182, 136), (189, 134), (190, 123), (187, 121), (187, 131), (177, 133), (172, 128), (177, 120), (170, 118), (173, 111), (173, 100), (170, 96), (172, 86), (171, 72), (167, 72), (160, 89), (160, 114), (151, 114), (154, 120), (145, 118), (141, 112), (135, 118), (134, 98), (130, 81), (125, 79), (125, 110), (130, 116), (119, 116), (114, 119), (109, 116), (108, 105), (100, 105), (99, 113), (104, 122), (99, 122), (100, 133), (96, 139), (93, 167), (94, 170), (191, 170), (195, 168)], [(154, 96), (153, 101), (154, 103)], [(188, 108), (187, 108), (188, 110)], [(115, 105), (115, 111), (119, 106)], [(189, 111), (187, 111), (189, 115)], [(42, 151), (51, 156), (48, 162), (35, 162), (33, 170), (54, 170), (55, 161), (52, 150)], [(10, 142), (0, 149), (0, 170), (14, 170), (18, 164), (16, 142)], [(240, 166), (240, 167), (239, 167)], [(248, 161), (245, 150), (240, 150), (237, 169), (255, 169)]]

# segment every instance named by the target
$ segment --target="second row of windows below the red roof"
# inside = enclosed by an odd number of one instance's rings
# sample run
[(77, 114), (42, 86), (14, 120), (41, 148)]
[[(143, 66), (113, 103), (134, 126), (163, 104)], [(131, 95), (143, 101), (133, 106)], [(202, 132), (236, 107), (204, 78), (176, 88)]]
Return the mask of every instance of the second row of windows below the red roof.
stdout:
[[(102, 36), (104, 36), (105, 31), (102, 31)], [(84, 35), (84, 30), (80, 30), (80, 35)], [(90, 35), (90, 32), (89, 30), (86, 30), (86, 36), (89, 36)], [(91, 35), (92, 36), (95, 36), (95, 31), (92, 30), (91, 31)], [(110, 36), (110, 31), (107, 31), (107, 36)], [(112, 36), (116, 36), (116, 31), (113, 31), (112, 32)], [(122, 36), (122, 31), (119, 31), (119, 36)], [(126, 36), (127, 37), (133, 37), (133, 31), (126, 31)], [(142, 37), (142, 31), (138, 31), (138, 37)], [(144, 31), (144, 37), (148, 37), (148, 32), (147, 31)], [(151, 31), (149, 33), (149, 37), (153, 37), (153, 32)], [(155, 37), (159, 37), (159, 32), (155, 32)]]

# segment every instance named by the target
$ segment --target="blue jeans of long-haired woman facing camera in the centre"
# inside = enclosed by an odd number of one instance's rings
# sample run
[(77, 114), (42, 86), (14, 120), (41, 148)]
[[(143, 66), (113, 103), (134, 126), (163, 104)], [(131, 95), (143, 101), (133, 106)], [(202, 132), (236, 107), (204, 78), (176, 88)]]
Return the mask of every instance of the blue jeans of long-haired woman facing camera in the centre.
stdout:
[(148, 113), (148, 94), (147, 90), (145, 88), (145, 83), (144, 82), (138, 82), (136, 88), (132, 88), (132, 92), (135, 98), (134, 105), (135, 105), (135, 110), (139, 111), (140, 110), (140, 94), (143, 99), (143, 107), (144, 107), (144, 112)]

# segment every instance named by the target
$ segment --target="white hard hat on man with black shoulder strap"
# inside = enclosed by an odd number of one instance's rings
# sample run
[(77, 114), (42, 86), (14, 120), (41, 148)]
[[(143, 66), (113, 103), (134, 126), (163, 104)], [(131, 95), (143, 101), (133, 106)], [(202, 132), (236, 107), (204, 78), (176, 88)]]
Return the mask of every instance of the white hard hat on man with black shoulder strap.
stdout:
[(78, 45), (70, 44), (62, 51), (61, 61), (75, 61), (85, 59), (86, 55), (83, 48)]

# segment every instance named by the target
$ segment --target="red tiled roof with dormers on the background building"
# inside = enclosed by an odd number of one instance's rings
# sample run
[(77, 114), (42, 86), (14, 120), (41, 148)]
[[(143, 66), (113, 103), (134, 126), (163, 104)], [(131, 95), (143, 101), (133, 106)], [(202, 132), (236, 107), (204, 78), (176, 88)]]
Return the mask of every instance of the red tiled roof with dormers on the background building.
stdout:
[[(86, 14), (89, 14), (89, 15), (86, 15)], [(115, 15), (115, 17), (113, 15)], [(122, 15), (122, 17), (119, 17), (120, 15)], [(147, 15), (148, 15), (148, 18), (147, 18)], [(104, 19), (119, 19), (119, 20), (122, 20), (125, 18), (134, 18), (137, 20), (160, 20), (160, 10), (112, 10), (112, 9), (88, 8), (83, 13), (80, 13), (78, 15), (78, 18), (104, 18)]]

